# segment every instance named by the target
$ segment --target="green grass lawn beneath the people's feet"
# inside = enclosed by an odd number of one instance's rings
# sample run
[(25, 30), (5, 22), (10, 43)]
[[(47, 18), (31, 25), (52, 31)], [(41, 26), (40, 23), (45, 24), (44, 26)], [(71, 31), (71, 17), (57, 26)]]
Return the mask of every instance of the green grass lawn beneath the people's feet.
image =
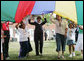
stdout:
[[(35, 56), (35, 45), (34, 42), (31, 41), (31, 45), (33, 51), (30, 52), (28, 57), (19, 59), (19, 43), (18, 42), (10, 42), (9, 43), (9, 55), (10, 59), (8, 60), (58, 60), (57, 59), (57, 52), (56, 52), (56, 42), (54, 40), (51, 41), (44, 41), (43, 46), (43, 56)], [(73, 58), (69, 58), (68, 46), (66, 46), (65, 51), (65, 59), (60, 60), (83, 60), (83, 57), (80, 55), (80, 52), (76, 51), (76, 56)]]

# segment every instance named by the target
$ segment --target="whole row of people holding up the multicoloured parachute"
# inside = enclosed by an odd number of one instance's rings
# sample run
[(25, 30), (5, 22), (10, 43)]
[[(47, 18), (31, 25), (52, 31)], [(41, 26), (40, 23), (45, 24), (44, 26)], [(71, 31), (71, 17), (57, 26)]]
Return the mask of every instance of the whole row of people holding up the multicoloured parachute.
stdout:
[[(83, 30), (83, 26), (76, 25), (73, 22), (69, 23), (62, 19), (61, 16), (56, 15), (54, 19), (53, 14), (50, 15), (50, 20), (52, 23), (56, 25), (56, 51), (58, 52), (58, 59), (65, 58), (64, 52), (66, 50), (66, 43), (69, 46), (69, 57), (75, 56), (75, 51), (81, 51), (81, 55), (83, 56), (83, 35), (81, 34), (81, 39), (79, 40), (78, 34), (79, 29)], [(44, 21), (41, 21), (41, 19)], [(37, 21), (35, 21), (30, 15), (28, 19), (28, 23), (35, 26), (34, 30), (34, 43), (35, 43), (35, 52), (36, 56), (42, 55), (43, 53), (43, 25), (47, 23), (47, 19), (44, 15), (37, 17)], [(8, 49), (9, 49), (9, 39), (10, 39), (10, 31), (9, 31), (9, 22), (1, 23), (1, 60), (6, 60), (9, 57)], [(20, 52), (19, 58), (23, 58), (29, 55), (33, 49), (30, 44), (30, 38), (28, 37), (28, 28), (27, 24), (24, 21), (16, 24), (16, 29), (19, 34), (19, 43), (20, 43)], [(45, 33), (46, 35), (46, 33)], [(45, 36), (46, 38), (46, 36)], [(45, 39), (46, 40), (46, 39)], [(62, 47), (62, 48), (61, 48)], [(39, 50), (40, 49), (40, 50)], [(62, 55), (60, 51), (62, 49)], [(40, 51), (40, 52), (39, 52)]]

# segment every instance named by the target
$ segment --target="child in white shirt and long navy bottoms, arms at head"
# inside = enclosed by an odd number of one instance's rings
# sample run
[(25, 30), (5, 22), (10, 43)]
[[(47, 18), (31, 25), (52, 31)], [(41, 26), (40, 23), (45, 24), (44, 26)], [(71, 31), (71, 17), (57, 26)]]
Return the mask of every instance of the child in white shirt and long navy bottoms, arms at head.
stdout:
[(19, 32), (19, 42), (20, 42), (20, 54), (19, 58), (23, 58), (29, 53), (29, 45), (28, 45), (28, 32), (27, 32), (27, 27), (21, 21), (20, 26), (19, 24), (16, 25), (16, 29)]

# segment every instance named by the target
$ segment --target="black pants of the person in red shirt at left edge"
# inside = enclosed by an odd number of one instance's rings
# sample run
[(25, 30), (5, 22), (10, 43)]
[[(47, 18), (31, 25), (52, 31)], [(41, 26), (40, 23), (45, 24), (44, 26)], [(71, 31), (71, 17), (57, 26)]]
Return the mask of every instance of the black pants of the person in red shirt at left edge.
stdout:
[(4, 43), (3, 43), (3, 56), (4, 59), (6, 59), (9, 56), (8, 50), (9, 50), (10, 32), (4, 31), (4, 35), (6, 35), (6, 37), (4, 38)]

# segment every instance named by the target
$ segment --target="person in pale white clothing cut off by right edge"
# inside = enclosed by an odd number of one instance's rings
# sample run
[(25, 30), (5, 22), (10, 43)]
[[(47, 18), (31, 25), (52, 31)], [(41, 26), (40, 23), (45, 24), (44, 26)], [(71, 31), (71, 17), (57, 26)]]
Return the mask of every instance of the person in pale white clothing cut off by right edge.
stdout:
[[(79, 26), (79, 29), (83, 30), (83, 26)], [(75, 51), (81, 51), (81, 56), (83, 56), (83, 34), (79, 34)]]

